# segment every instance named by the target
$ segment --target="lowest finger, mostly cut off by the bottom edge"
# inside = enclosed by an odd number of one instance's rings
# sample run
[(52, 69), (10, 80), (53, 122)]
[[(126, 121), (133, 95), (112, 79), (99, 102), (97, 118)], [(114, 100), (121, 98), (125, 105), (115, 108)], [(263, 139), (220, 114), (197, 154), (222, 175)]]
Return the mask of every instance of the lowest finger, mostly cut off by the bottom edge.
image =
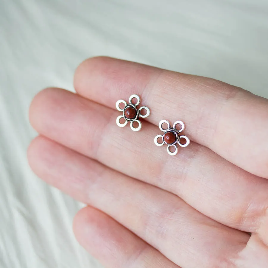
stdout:
[(179, 268), (101, 211), (86, 207), (74, 218), (78, 242), (107, 268)]

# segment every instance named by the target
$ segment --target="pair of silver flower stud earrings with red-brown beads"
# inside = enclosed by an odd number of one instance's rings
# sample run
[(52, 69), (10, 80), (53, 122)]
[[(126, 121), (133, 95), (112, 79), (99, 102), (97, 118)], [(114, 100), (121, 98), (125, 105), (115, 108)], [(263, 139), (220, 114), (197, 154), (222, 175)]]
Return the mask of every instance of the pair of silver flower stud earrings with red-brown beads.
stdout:
[[(134, 103), (133, 99), (137, 99), (137, 102)], [(116, 102), (116, 109), (119, 110), (120, 112), (123, 112), (123, 115), (120, 115), (116, 118), (116, 124), (119, 127), (124, 127), (127, 125), (128, 122), (130, 122), (130, 128), (133, 131), (139, 131), (141, 130), (141, 121), (139, 120), (139, 118), (146, 118), (150, 115), (151, 111), (148, 107), (146, 106), (141, 106), (140, 108), (138, 108), (138, 105), (140, 104), (141, 99), (138, 95), (133, 94), (130, 96), (129, 98), (129, 103), (127, 104), (127, 102), (125, 102), (122, 99), (119, 99)], [(121, 106), (121, 108), (119, 107), (120, 104), (123, 103), (123, 106)], [(145, 110), (146, 113), (142, 114), (141, 111)], [(121, 123), (120, 120), (124, 119), (124, 123)], [(138, 127), (134, 127), (134, 122), (138, 123)], [(167, 128), (164, 129), (163, 128), (163, 124), (167, 124)], [(177, 125), (181, 125), (180, 130), (178, 130), (176, 128)], [(177, 144), (180, 145), (181, 147), (187, 147), (190, 144), (190, 140), (187, 136), (185, 135), (181, 135), (181, 133), (183, 132), (185, 128), (185, 125), (183, 123), (183, 121), (176, 121), (173, 124), (173, 127), (171, 127), (169, 121), (167, 120), (161, 120), (159, 122), (159, 129), (161, 131), (164, 132), (163, 135), (156, 135), (154, 142), (155, 145), (157, 146), (162, 146), (164, 144), (167, 144), (167, 152), (169, 153), (169, 155), (177, 155), (178, 153), (178, 147)], [(161, 142), (159, 143), (158, 140), (161, 140)], [(181, 143), (181, 140), (185, 139), (186, 143)], [(171, 151), (171, 148), (174, 147), (173, 151)]]

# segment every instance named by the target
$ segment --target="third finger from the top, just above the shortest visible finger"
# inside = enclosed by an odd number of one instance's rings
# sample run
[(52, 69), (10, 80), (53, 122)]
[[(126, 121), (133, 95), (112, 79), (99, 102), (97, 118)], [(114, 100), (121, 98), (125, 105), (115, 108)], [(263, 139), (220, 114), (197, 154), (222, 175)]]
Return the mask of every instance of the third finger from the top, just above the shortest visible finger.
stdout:
[(35, 139), (28, 158), (43, 180), (110, 215), (181, 267), (232, 267), (249, 239), (169, 192), (46, 138)]

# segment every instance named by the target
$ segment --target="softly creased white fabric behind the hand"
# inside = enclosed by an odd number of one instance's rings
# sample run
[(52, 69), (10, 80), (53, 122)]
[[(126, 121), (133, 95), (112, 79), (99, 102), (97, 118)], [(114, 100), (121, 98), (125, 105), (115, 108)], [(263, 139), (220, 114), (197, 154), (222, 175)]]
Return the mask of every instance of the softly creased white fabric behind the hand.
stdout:
[(268, 97), (267, 0), (0, 0), (0, 266), (101, 267), (75, 241), (81, 207), (29, 169), (42, 88), (73, 90), (108, 55), (213, 77)]

